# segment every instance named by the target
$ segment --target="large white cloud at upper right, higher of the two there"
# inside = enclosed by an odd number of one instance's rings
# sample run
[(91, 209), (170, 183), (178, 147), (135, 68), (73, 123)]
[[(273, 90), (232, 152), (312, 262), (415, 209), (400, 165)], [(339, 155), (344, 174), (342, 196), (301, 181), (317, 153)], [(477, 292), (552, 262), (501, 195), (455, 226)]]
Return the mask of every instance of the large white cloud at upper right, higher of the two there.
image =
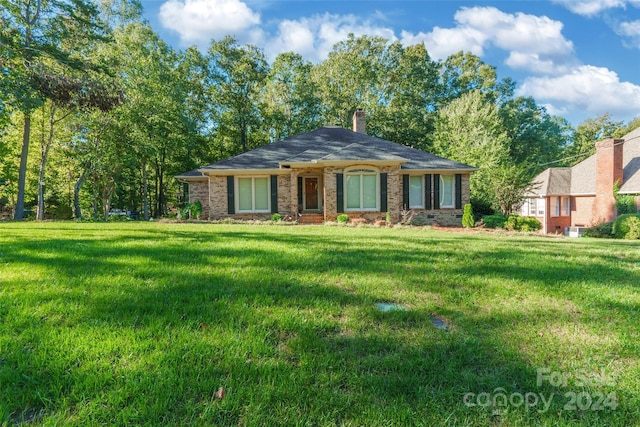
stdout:
[(456, 26), (430, 33), (402, 33), (404, 44), (424, 41), (429, 54), (444, 59), (460, 50), (478, 56), (488, 45), (509, 51), (506, 64), (536, 73), (566, 72), (575, 62), (573, 43), (562, 35), (563, 24), (546, 16), (508, 14), (495, 7), (462, 8)]

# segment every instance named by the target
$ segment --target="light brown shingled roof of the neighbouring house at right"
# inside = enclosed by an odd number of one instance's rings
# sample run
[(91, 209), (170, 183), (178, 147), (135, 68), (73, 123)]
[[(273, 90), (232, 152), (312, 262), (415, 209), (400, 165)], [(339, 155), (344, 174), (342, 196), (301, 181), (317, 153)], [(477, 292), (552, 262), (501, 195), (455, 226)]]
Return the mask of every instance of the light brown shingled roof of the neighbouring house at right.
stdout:
[[(620, 193), (640, 194), (640, 128), (624, 137), (623, 179)], [(527, 196), (593, 195), (596, 192), (596, 155), (571, 168), (549, 168), (533, 179)]]

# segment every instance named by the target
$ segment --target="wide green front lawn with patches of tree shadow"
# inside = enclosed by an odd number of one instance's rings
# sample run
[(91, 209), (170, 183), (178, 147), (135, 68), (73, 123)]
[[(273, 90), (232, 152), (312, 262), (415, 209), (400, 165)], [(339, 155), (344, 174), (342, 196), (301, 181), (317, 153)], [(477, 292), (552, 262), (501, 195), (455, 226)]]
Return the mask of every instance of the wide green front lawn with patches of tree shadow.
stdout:
[(628, 241), (0, 224), (0, 425), (638, 425), (639, 286)]

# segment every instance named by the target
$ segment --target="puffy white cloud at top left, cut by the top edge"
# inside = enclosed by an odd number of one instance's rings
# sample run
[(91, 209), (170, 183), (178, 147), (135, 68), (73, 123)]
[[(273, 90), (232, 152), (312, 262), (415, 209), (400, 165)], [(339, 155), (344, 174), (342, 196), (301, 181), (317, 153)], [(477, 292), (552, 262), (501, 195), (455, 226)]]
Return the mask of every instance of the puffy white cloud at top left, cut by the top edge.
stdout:
[(169, 0), (160, 22), (176, 31), (183, 44), (203, 43), (228, 34), (245, 41), (256, 37), (260, 14), (240, 0)]

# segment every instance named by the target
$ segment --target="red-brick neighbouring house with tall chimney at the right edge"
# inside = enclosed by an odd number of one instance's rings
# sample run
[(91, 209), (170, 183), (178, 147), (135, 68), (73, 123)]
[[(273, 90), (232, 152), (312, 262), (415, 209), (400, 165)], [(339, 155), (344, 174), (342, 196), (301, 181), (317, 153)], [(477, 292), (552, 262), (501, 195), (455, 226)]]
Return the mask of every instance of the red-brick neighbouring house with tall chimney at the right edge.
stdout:
[(535, 177), (521, 214), (538, 218), (545, 233), (609, 222), (617, 217), (616, 183), (619, 194), (635, 195), (640, 204), (640, 128), (597, 142), (596, 154), (571, 168), (549, 168)]

